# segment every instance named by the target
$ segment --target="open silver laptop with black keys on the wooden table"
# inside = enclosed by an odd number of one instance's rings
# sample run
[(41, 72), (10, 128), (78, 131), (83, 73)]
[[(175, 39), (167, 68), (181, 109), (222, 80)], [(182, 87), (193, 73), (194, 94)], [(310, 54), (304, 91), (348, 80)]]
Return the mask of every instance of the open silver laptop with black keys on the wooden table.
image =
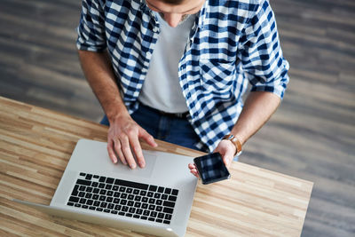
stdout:
[(144, 169), (113, 164), (106, 143), (80, 139), (50, 206), (22, 204), (52, 216), (158, 236), (184, 236), (197, 185), (193, 157), (144, 150)]

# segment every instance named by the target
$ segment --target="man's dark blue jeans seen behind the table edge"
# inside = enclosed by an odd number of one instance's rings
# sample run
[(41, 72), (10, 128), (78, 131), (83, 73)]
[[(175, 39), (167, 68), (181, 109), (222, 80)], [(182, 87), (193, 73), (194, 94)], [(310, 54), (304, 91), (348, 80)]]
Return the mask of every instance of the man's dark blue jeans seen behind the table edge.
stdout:
[[(200, 141), (200, 138), (186, 118), (163, 115), (158, 110), (142, 104), (130, 116), (154, 138), (207, 152), (206, 148), (199, 149), (195, 146)], [(109, 126), (106, 115), (100, 123)]]

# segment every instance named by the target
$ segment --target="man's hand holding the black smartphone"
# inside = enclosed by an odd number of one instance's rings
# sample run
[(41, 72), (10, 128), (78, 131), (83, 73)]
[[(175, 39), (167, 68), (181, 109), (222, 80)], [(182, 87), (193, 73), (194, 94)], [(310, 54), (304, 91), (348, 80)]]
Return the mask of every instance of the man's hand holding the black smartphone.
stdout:
[[(225, 166), (229, 168), (233, 162), (235, 151), (236, 147), (233, 145), (232, 141), (221, 140), (213, 152), (221, 154), (223, 162), (225, 162)], [(199, 172), (197, 171), (194, 163), (189, 163), (188, 168), (195, 177), (199, 178)]]

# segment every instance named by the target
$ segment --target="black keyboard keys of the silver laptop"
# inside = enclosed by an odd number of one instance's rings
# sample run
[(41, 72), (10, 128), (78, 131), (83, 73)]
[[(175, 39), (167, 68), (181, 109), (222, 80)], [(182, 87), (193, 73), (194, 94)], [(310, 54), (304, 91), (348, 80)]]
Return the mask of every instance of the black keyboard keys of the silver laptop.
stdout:
[(170, 224), (177, 189), (80, 173), (68, 206)]

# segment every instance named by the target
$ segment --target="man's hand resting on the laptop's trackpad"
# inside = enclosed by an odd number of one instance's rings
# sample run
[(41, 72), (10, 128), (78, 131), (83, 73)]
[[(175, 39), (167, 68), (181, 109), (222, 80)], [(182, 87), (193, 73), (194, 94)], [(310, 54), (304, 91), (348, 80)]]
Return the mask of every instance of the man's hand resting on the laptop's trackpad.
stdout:
[(139, 138), (143, 138), (150, 146), (158, 146), (153, 136), (140, 127), (130, 115), (118, 116), (114, 122), (110, 122), (107, 134), (107, 151), (112, 162), (116, 163), (118, 156), (123, 164), (129, 164), (130, 169), (135, 169), (136, 158), (139, 167), (144, 168), (146, 162)]

